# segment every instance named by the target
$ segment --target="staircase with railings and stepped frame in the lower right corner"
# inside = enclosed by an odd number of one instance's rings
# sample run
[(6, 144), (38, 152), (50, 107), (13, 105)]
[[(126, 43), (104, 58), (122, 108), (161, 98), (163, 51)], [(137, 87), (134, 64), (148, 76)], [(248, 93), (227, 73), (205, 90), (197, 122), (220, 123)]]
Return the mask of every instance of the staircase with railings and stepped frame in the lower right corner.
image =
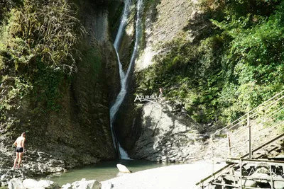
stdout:
[(212, 163), (218, 157), (226, 166), (198, 188), (284, 188), (284, 161), (273, 159), (284, 144), (283, 111), (284, 91), (212, 134)]

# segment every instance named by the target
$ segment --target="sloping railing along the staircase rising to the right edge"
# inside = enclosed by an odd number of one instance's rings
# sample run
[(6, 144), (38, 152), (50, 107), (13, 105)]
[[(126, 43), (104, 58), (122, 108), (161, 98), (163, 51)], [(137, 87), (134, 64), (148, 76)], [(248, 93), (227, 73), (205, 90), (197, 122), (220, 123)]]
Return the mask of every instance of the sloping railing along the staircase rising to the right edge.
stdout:
[[(259, 142), (265, 143), (267, 140), (271, 139), (271, 137), (275, 137), (277, 128), (271, 126), (283, 125), (283, 120), (281, 118), (279, 119), (279, 113), (284, 110), (283, 93), (284, 91), (275, 94), (272, 98), (269, 98), (267, 101), (261, 103), (261, 105), (258, 105), (256, 108), (253, 108), (248, 113), (241, 116), (241, 118), (231, 122), (231, 124), (221, 130), (217, 130), (214, 134), (211, 134), (212, 156), (214, 154), (214, 156), (226, 158), (229, 154), (231, 157), (238, 157), (246, 152), (244, 147), (247, 145), (248, 150), (251, 151), (251, 147), (256, 144), (261, 144)], [(251, 125), (251, 120), (254, 120), (255, 124)], [(278, 122), (278, 120), (280, 122)], [(270, 127), (264, 125), (270, 122), (273, 123), (273, 125), (269, 124), (271, 125)], [(244, 123), (247, 124), (245, 125)], [(259, 136), (257, 132), (260, 130), (266, 130), (266, 132), (269, 133), (268, 137), (263, 137), (261, 141), (256, 140)], [(224, 131), (226, 131), (226, 133)], [(223, 139), (219, 138), (216, 140), (217, 134), (228, 135)], [(246, 137), (248, 137), (247, 140)], [(250, 156), (252, 156), (252, 154)]]

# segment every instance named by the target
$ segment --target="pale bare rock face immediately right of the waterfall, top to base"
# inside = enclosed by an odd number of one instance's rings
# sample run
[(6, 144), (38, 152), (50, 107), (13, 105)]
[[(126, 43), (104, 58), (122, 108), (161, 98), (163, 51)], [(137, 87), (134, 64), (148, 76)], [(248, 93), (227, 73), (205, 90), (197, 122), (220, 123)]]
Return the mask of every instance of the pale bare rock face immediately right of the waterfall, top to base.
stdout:
[(146, 84), (143, 72), (153, 64), (153, 57), (170, 50), (164, 45), (179, 38), (193, 40), (192, 30), (184, 28), (187, 21), (197, 16), (195, 2), (146, 1), (143, 13), (141, 52), (129, 81), (128, 96), (115, 122), (121, 144), (133, 159), (171, 162), (202, 159), (204, 154), (199, 152), (206, 148), (207, 127), (202, 125), (202, 130), (201, 125), (191, 120), (182, 104), (163, 98), (158, 103), (134, 102), (137, 94), (158, 96), (159, 88), (141, 91), (138, 85)]

